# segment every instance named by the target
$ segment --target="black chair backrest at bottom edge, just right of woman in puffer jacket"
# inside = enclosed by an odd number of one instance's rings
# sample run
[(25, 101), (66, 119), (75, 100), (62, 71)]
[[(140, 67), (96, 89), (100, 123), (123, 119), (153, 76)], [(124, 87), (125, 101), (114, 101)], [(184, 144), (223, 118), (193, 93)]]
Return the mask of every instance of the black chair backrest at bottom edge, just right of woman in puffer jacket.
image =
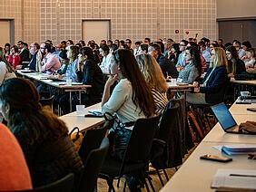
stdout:
[(104, 138), (99, 149), (90, 151), (84, 162), (84, 175), (80, 180), (79, 191), (94, 192), (97, 185), (97, 178), (103, 167), (104, 158), (109, 148), (109, 139)]

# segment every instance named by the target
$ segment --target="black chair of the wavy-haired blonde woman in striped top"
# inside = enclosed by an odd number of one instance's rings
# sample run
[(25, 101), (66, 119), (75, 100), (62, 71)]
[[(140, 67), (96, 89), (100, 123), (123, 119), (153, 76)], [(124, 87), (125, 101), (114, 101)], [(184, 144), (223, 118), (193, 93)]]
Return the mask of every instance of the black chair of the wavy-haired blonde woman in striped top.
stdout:
[(176, 119), (179, 107), (179, 103), (173, 104), (172, 101), (168, 102), (162, 114), (158, 133), (155, 139), (153, 139), (151, 163), (162, 186), (164, 184), (159, 170), (162, 169), (166, 180), (169, 180), (165, 168), (176, 168), (182, 164), (182, 144)]

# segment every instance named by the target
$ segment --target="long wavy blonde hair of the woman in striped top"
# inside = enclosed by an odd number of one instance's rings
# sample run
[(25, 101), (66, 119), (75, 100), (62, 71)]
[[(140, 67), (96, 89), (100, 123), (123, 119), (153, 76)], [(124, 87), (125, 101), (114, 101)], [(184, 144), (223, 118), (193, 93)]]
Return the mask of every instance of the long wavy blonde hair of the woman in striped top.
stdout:
[(151, 89), (155, 88), (161, 92), (166, 92), (168, 85), (158, 62), (156, 62), (153, 56), (142, 53), (136, 55), (136, 60), (149, 87)]

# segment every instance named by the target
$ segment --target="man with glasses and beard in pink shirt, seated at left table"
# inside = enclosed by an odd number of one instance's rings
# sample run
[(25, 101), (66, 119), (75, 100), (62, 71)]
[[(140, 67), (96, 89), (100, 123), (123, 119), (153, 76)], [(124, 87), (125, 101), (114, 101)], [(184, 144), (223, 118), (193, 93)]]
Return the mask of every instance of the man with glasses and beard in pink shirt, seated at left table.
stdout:
[(49, 43), (42, 43), (40, 45), (40, 52), (42, 53), (43, 61), (41, 62), (42, 65), (42, 72), (53, 74), (61, 67), (61, 62), (51, 53), (51, 44)]

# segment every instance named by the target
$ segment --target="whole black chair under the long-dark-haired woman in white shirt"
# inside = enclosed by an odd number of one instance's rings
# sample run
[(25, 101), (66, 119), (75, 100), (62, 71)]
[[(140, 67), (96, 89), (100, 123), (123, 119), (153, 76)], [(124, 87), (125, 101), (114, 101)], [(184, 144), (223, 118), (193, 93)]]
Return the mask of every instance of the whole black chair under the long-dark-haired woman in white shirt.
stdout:
[(138, 178), (146, 186), (147, 191), (150, 191), (145, 180), (148, 178), (153, 188), (152, 178), (148, 176), (146, 169), (159, 120), (160, 115), (136, 120), (122, 161), (112, 158), (111, 154), (107, 155), (100, 178), (107, 180), (109, 191), (114, 191), (113, 179), (120, 179), (123, 175)]

